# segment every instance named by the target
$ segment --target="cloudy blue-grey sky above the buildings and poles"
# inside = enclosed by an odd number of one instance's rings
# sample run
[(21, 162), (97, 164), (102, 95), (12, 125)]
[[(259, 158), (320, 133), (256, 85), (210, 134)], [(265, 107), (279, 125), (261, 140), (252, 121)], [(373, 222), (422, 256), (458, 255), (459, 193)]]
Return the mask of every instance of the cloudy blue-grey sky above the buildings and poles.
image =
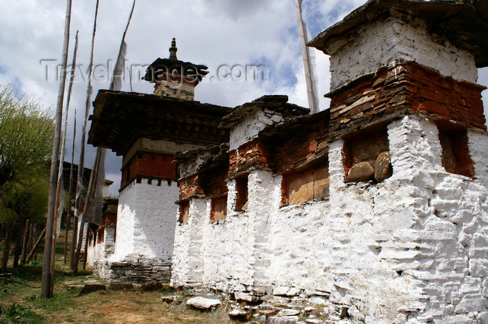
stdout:
[[(312, 36), (339, 21), (365, 0), (304, 0), (303, 15)], [(74, 109), (77, 108), (75, 163), (79, 158), (79, 134), (84, 118), (86, 68), (88, 67), (96, 0), (73, 0), (69, 59), (79, 30), (77, 65), (68, 117), (68, 160), (73, 143)], [(119, 51), (120, 40), (132, 0), (100, 0), (95, 42), (94, 95), (109, 87), (108, 72)], [(41, 98), (53, 111), (56, 105), (56, 64), (61, 61), (66, 1), (0, 1), (0, 82), (13, 82), (17, 90)], [(167, 57), (175, 37), (178, 59), (205, 64), (210, 77), (199, 84), (195, 100), (234, 107), (264, 94), (287, 94), (292, 103), (307, 106), (303, 63), (293, 0), (137, 0), (126, 36), (127, 66), (134, 91), (152, 93), (153, 86), (138, 73), (158, 57)], [(319, 94), (328, 92), (328, 57), (317, 57)], [(241, 66), (264, 66), (264, 80), (238, 78)], [(223, 67), (222, 67), (223, 66)], [(219, 71), (235, 68), (234, 78), (219, 78)], [(82, 71), (82, 73), (79, 73)], [(480, 69), (480, 84), (488, 85), (487, 68)], [(128, 78), (123, 90), (130, 91)], [(222, 75), (221, 75), (222, 76)], [(488, 91), (484, 91), (488, 107)], [(94, 99), (94, 95), (92, 100)], [(321, 110), (328, 101), (321, 98)], [(485, 110), (486, 111), (486, 110)], [(89, 126), (88, 126), (89, 127)], [(89, 145), (85, 165), (91, 168), (94, 149)], [(121, 158), (110, 154), (107, 178), (114, 180), (111, 193), (118, 193)]]

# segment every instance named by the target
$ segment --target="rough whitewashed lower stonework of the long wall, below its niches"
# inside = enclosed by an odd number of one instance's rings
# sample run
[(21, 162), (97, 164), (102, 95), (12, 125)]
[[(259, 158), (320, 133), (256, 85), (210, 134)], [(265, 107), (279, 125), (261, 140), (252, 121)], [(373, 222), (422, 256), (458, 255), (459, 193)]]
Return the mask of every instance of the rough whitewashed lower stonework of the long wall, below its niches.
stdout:
[[(280, 208), (281, 177), (254, 170), (247, 212), (234, 212), (228, 182), (227, 219), (210, 223), (210, 202), (190, 214), (176, 228), (175, 260), (197, 230), (206, 286), (309, 297), (356, 323), (477, 323), (488, 316), (488, 136), (469, 133), (477, 179), (445, 172), (430, 121), (393, 121), (388, 139), (394, 172), (379, 184), (344, 183), (342, 140), (330, 143), (328, 200)], [(174, 285), (185, 271), (174, 263)]]

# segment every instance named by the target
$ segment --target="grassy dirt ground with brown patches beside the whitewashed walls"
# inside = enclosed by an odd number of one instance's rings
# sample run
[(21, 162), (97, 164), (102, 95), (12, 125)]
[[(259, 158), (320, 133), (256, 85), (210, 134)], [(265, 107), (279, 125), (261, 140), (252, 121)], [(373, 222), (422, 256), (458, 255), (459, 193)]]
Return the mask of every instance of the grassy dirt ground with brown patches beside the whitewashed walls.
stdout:
[[(186, 305), (188, 291), (174, 291), (169, 286), (141, 290), (102, 290), (79, 295), (85, 283), (98, 280), (90, 270), (74, 276), (63, 263), (61, 236), (56, 249), (54, 296), (41, 298), (42, 255), (24, 267), (10, 267), (0, 274), (1, 324), (126, 324), (126, 323), (229, 323), (229, 309), (199, 311)], [(40, 249), (42, 254), (42, 249)], [(69, 260), (68, 260), (69, 263)], [(105, 282), (102, 282), (105, 283)], [(176, 301), (163, 302), (163, 295), (178, 295)]]

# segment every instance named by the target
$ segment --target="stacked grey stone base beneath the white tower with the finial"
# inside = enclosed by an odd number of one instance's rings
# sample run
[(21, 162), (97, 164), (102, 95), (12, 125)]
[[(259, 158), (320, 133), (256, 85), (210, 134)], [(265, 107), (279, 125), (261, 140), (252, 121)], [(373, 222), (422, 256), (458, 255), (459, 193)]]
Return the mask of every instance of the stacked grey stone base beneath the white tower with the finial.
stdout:
[(123, 260), (99, 260), (93, 270), (102, 279), (112, 282), (144, 283), (160, 281), (169, 283), (171, 261), (161, 258), (128, 256)]

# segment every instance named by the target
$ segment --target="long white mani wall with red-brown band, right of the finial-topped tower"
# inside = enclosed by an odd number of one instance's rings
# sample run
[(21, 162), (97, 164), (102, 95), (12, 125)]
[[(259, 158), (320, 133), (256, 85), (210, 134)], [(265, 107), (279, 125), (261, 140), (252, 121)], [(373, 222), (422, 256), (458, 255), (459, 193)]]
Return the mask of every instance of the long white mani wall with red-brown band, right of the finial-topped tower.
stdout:
[[(260, 98), (222, 119), (227, 161), (213, 148), (176, 159), (181, 183), (194, 181), (180, 187), (174, 286), (306, 298), (353, 323), (487, 323), (480, 58), (439, 42), (422, 10), (383, 2), (312, 42), (332, 55), (330, 110)], [(219, 221), (208, 165), (228, 170)]]

